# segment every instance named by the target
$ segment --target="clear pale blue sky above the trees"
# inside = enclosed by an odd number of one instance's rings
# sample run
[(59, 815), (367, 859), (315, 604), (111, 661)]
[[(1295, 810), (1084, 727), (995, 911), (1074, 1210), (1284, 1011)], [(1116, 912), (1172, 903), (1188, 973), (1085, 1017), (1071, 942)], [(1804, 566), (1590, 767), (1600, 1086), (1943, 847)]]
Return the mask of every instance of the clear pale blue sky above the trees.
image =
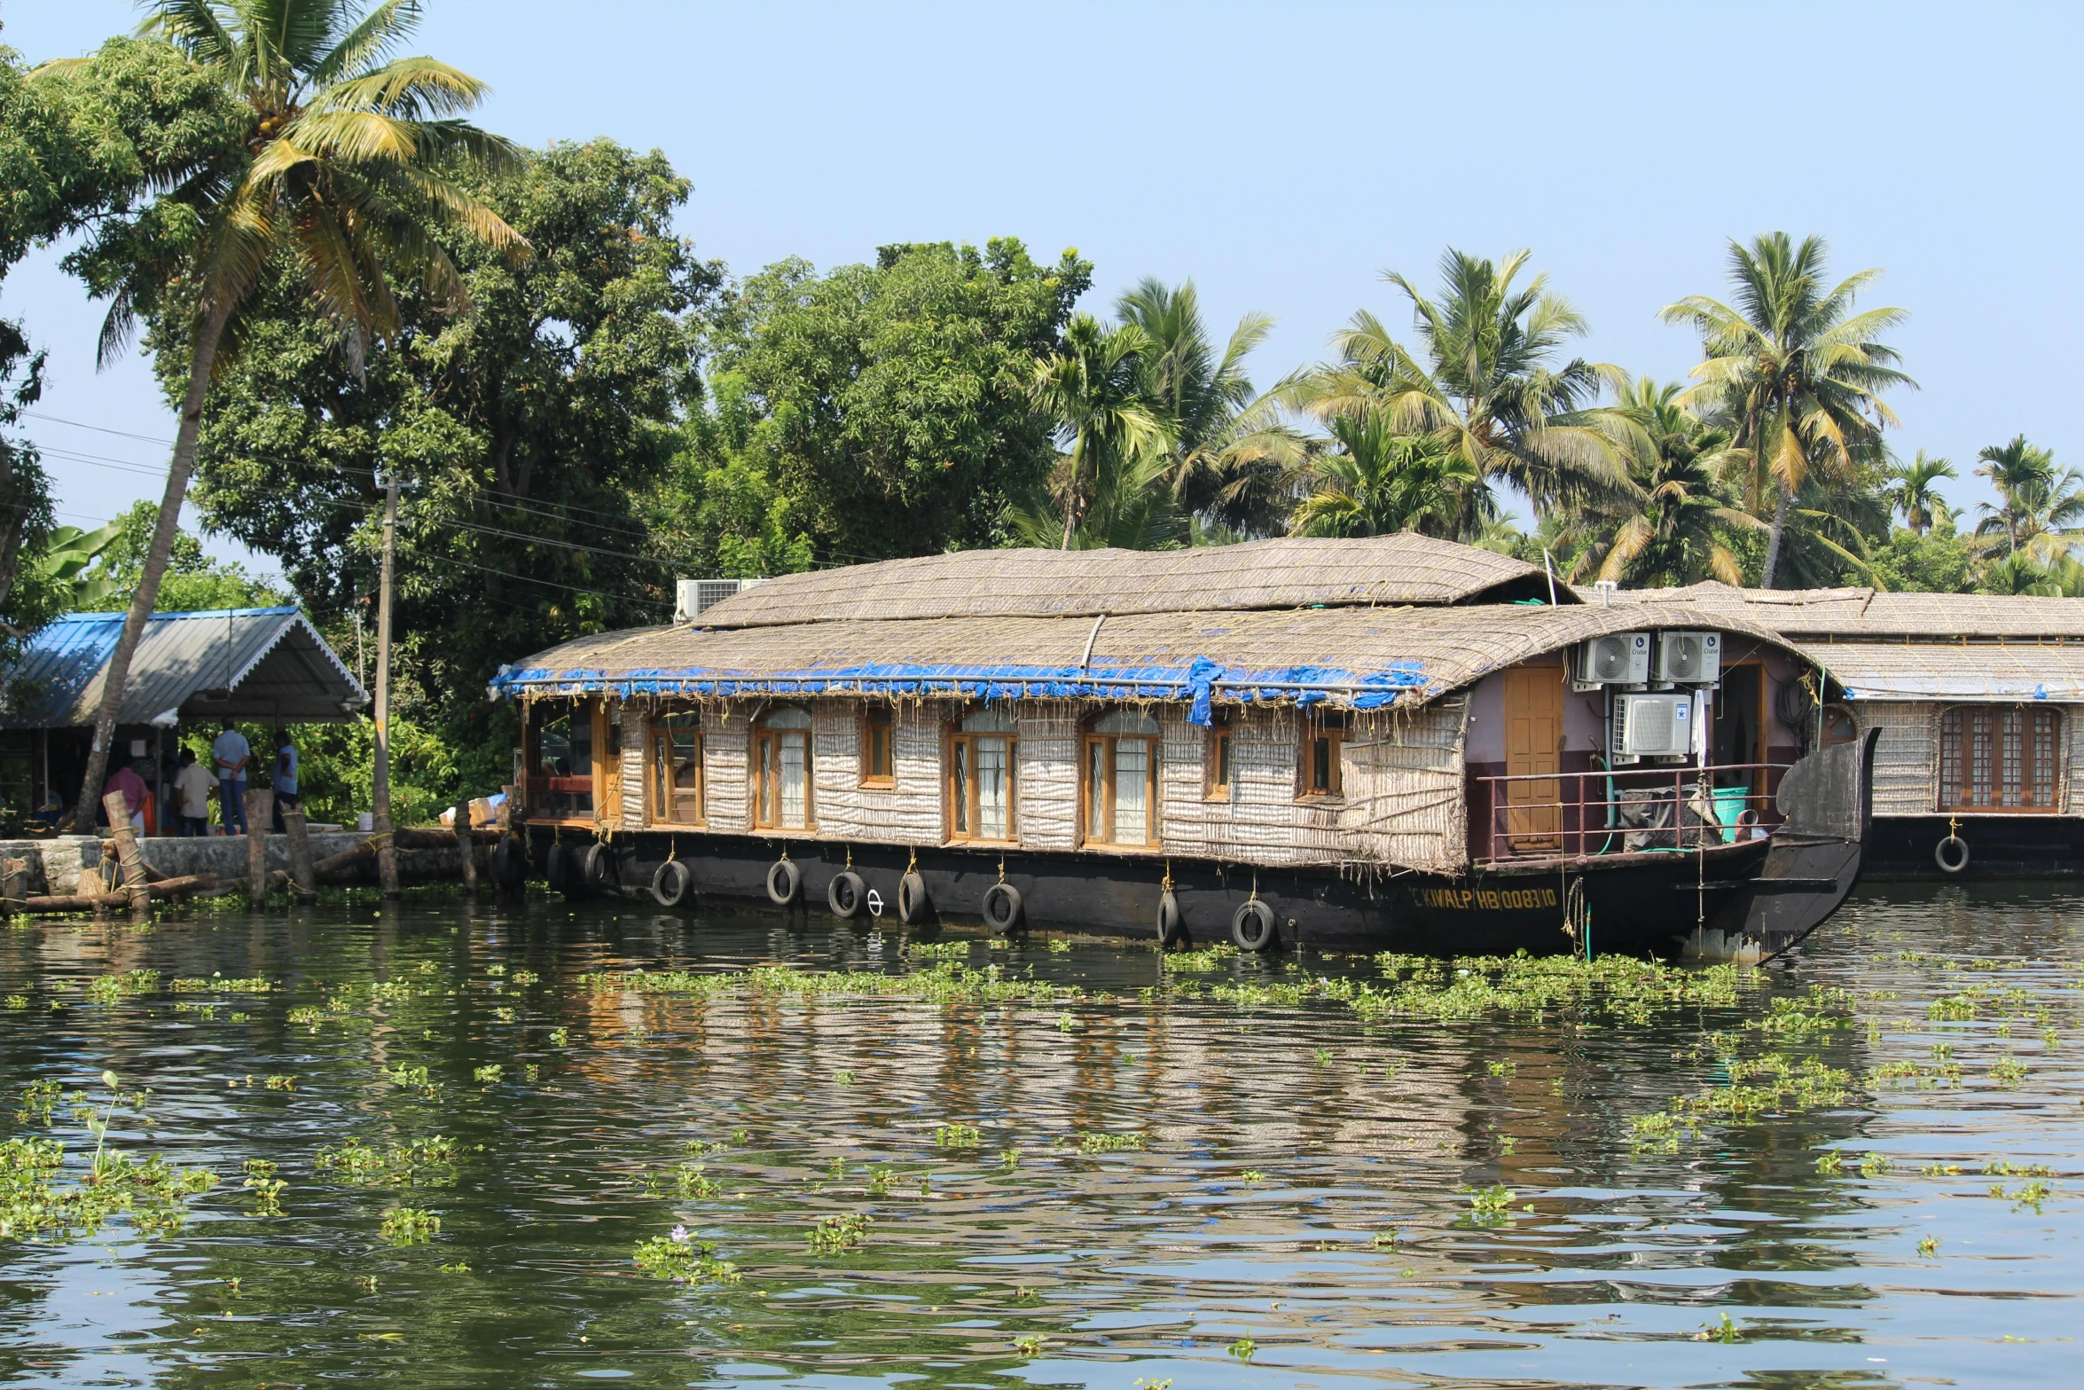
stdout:
[[(671, 4), (427, 0), (419, 52), (492, 83), (529, 144), (656, 146), (694, 185), (679, 229), (752, 271), (886, 242), (1077, 246), (1102, 311), (1192, 277), (1215, 321), (1280, 327), (1259, 381), (1321, 356), (1355, 308), (1407, 323), (1384, 267), (1444, 246), (1534, 265), (1592, 321), (1584, 352), (1680, 377), (1657, 308), (1719, 292), (1723, 244), (1819, 231), (1882, 267), (1869, 302), (1921, 383), (1896, 448), (1955, 458), (2078, 438), (2076, 140), (2084, 10), (2061, 4)], [(0, 42), (77, 54), (123, 0), (0, 0)], [(100, 311), (21, 267), (0, 313), (50, 348), (42, 411), (171, 438), (135, 356), (94, 371)], [(33, 421), (54, 448), (163, 467), (140, 440)], [(158, 483), (50, 461), (67, 519)], [(1953, 488), (1971, 502), (1974, 479)]]

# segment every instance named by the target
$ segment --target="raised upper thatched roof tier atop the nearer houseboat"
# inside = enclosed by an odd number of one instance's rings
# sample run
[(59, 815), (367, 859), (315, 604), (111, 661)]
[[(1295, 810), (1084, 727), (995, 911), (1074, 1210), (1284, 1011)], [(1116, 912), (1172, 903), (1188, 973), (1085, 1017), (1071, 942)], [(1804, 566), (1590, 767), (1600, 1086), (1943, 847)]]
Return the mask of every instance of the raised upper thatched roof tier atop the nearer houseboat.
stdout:
[[(1534, 565), (1423, 536), (1255, 540), (1192, 550), (959, 550), (779, 575), (702, 613), (704, 627), (936, 617), (1094, 617), (1315, 604), (1546, 598)], [(1557, 586), (1559, 602), (1573, 602)]]

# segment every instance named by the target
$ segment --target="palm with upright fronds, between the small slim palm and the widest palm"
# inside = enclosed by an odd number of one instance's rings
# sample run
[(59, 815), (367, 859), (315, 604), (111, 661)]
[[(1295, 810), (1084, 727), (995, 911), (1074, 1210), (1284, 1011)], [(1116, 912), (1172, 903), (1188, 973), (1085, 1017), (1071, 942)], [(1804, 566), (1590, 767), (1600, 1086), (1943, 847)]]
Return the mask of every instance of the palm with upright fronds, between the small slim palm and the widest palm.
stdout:
[(1302, 440), (1244, 375), (1244, 358), (1273, 331), (1273, 317), (1244, 315), (1217, 354), (1192, 279), (1173, 290), (1146, 277), (1115, 300), (1115, 315), (1150, 340), (1140, 356), (1142, 394), (1171, 438), (1180, 506), (1240, 531), (1275, 529), (1286, 513), (1275, 504), (1302, 458)]

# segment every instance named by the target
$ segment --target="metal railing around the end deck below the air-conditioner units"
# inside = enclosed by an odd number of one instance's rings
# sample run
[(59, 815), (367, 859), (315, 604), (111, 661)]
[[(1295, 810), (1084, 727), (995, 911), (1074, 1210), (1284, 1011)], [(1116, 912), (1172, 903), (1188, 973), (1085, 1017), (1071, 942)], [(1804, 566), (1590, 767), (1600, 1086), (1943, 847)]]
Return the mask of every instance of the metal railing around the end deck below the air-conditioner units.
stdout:
[(1788, 763), (1592, 767), (1469, 777), (1475, 863), (1696, 850), (1763, 840)]

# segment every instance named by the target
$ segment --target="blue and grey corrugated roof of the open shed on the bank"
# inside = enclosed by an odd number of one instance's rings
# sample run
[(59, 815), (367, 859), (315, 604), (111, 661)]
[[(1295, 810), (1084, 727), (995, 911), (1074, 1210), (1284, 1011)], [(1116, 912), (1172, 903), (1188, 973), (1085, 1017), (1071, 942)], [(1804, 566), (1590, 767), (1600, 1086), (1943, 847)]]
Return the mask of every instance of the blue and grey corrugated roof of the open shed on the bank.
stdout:
[[(46, 625), (6, 675), (23, 698), (0, 713), (0, 725), (94, 723), (121, 631), (121, 613), (69, 613)], [(217, 609), (154, 613), (146, 621), (117, 719), (152, 723), (177, 713), (327, 723), (367, 702), (354, 673), (296, 609)]]

